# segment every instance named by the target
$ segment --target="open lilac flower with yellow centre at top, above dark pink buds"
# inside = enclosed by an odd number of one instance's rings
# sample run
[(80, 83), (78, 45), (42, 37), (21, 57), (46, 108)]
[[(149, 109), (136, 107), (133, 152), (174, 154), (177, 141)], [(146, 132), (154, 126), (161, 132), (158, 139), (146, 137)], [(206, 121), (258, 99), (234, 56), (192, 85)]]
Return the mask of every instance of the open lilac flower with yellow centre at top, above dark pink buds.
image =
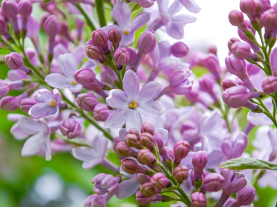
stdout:
[(118, 26), (105, 26), (101, 28), (101, 30), (107, 33), (111, 28), (117, 28), (122, 34), (120, 46), (123, 48), (132, 45), (134, 42), (134, 32), (141, 28), (141, 26), (147, 23), (150, 19), (150, 13), (141, 12), (131, 21), (131, 9), (127, 3), (124, 3), (123, 1), (116, 2), (116, 5), (112, 10), (112, 15), (118, 23)]

